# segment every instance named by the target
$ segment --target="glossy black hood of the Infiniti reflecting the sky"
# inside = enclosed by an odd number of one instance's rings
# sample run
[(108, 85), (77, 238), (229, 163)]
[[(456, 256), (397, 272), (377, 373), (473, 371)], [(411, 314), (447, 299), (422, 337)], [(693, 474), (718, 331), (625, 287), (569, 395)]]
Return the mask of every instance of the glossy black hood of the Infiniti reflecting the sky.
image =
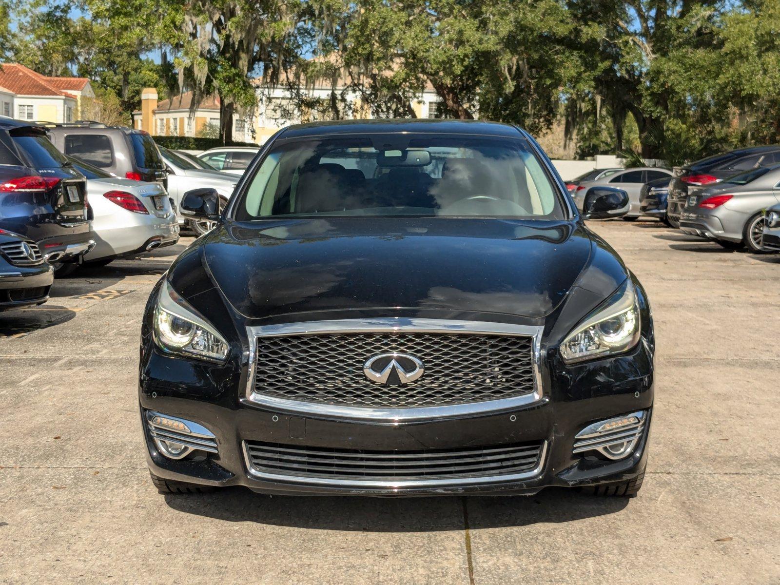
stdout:
[(222, 225), (203, 260), (250, 319), (380, 307), (543, 317), (588, 264), (573, 222), (332, 218)]

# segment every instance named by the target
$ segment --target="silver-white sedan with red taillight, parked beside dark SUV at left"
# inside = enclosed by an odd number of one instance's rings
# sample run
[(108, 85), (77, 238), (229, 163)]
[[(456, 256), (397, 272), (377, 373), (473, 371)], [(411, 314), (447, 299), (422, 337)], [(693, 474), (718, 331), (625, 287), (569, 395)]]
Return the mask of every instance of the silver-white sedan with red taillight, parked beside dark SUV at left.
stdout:
[(118, 257), (179, 241), (179, 222), (161, 183), (120, 179), (76, 158), (69, 160), (87, 177), (87, 203), (97, 242), (84, 262), (105, 266)]

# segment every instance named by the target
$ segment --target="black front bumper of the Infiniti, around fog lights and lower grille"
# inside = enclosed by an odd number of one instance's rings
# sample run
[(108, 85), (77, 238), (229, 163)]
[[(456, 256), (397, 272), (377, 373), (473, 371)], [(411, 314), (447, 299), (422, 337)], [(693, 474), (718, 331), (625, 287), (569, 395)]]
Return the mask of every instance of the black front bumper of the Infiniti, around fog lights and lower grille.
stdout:
[[(245, 383), (246, 372), (242, 374)], [(215, 379), (216, 378), (216, 379)], [(547, 376), (541, 399), (523, 407), (429, 420), (376, 421), (277, 410), (238, 398), (225, 388), (213, 366), (166, 356), (154, 348), (142, 355), (140, 413), (152, 472), (168, 480), (211, 486), (241, 485), (275, 494), (413, 496), (534, 494), (544, 487), (576, 487), (632, 480), (644, 473), (653, 406), (652, 353), (640, 341), (631, 352), (594, 360)], [(184, 382), (183, 381), (188, 381)], [(155, 445), (150, 413), (202, 425), (213, 451), (200, 459), (169, 459)], [(575, 436), (590, 424), (642, 413), (636, 445), (624, 459), (575, 450)], [(190, 424), (190, 426), (193, 426)], [(196, 441), (199, 439), (196, 439)], [(200, 439), (204, 440), (204, 439)], [(384, 452), (451, 453), (463, 449), (501, 449), (535, 445), (532, 469), (514, 474), (477, 474), (449, 480), (402, 479), (372, 484), (359, 476), (296, 476), (258, 470), (247, 447), (293, 452), (329, 452), (360, 457)], [(392, 455), (389, 455), (391, 454)], [(382, 457), (383, 455), (378, 455)], [(443, 455), (438, 455), (443, 456)], [(448, 455), (451, 456), (451, 455)]]

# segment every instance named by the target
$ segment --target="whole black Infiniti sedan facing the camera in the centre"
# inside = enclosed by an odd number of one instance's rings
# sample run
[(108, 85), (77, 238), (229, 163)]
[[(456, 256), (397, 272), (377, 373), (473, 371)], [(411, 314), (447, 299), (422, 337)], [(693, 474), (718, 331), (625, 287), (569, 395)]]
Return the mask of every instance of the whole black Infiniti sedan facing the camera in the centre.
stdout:
[(634, 495), (653, 408), (642, 285), (515, 126), (289, 126), (155, 285), (140, 418), (162, 492)]

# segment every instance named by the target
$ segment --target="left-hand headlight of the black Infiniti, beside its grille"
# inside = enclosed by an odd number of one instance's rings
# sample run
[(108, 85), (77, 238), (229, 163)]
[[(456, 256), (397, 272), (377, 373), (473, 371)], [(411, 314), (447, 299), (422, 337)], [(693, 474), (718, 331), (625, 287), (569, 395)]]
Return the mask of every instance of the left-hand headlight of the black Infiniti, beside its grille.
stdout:
[(168, 353), (224, 362), (228, 342), (166, 280), (154, 308), (154, 341)]

